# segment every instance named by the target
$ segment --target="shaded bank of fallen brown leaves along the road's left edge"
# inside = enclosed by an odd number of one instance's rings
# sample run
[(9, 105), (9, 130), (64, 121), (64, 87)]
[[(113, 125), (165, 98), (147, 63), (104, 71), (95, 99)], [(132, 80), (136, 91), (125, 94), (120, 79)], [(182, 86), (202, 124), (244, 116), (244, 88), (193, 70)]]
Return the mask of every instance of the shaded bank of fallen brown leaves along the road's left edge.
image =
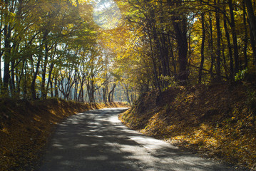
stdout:
[(85, 110), (127, 106), (0, 98), (0, 170), (34, 170), (56, 124)]

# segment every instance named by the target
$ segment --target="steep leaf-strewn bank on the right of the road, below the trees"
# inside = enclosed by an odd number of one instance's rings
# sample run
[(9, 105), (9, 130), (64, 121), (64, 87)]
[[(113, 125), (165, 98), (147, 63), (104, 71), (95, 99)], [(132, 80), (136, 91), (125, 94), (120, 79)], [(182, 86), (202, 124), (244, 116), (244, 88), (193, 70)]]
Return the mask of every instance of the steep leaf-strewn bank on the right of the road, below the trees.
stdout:
[(179, 86), (142, 95), (119, 119), (204, 157), (256, 170), (255, 86)]

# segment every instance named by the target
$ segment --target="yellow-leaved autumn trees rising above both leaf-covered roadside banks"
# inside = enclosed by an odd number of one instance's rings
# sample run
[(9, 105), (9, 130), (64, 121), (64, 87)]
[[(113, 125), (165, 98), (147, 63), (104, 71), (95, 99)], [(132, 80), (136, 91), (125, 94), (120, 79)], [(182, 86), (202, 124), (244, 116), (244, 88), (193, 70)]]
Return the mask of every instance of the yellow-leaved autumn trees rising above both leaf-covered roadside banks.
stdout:
[(1, 97), (126, 100), (254, 79), (254, 0), (3, 0)]

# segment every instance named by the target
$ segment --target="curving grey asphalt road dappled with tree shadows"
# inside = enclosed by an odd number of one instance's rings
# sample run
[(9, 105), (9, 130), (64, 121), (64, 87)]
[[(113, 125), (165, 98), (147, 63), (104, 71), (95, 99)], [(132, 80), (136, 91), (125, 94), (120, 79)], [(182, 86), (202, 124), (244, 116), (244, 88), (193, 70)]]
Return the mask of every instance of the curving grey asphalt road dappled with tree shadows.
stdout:
[(124, 110), (90, 110), (67, 118), (39, 170), (234, 170), (129, 130), (118, 120)]

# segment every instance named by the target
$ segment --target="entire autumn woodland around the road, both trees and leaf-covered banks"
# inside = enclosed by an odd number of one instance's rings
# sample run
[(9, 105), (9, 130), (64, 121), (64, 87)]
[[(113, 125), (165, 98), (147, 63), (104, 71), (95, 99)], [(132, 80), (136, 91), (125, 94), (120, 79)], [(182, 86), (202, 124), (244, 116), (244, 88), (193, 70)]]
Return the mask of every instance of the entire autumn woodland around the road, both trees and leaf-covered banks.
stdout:
[(122, 106), (131, 129), (255, 170), (255, 8), (1, 0), (0, 170), (38, 165), (64, 118)]

